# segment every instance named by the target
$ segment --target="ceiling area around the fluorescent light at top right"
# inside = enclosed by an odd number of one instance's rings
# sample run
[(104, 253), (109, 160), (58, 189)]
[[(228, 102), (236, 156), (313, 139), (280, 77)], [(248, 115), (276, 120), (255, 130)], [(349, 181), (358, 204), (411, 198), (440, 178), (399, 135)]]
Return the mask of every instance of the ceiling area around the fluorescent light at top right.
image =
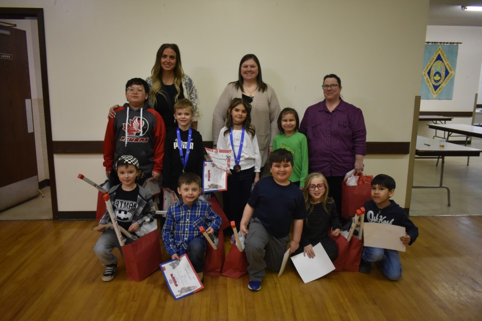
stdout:
[(462, 11), (461, 6), (482, 6), (482, 0), (430, 0), (428, 25), (482, 27), (482, 12)]

